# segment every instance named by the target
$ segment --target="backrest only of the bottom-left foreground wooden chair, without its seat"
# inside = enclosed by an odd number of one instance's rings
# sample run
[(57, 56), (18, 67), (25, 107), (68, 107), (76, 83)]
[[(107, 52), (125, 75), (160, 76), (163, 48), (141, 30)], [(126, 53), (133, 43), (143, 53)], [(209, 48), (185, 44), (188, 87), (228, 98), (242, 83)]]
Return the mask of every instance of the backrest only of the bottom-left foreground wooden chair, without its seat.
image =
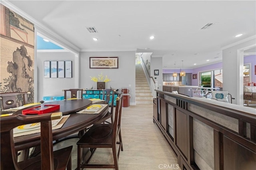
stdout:
[(48, 113), (43, 115), (11, 115), (1, 117), (0, 119), (0, 132), (1, 132), (1, 154), (0, 166), (2, 170), (19, 170), (20, 167), (17, 162), (17, 154), (14, 148), (13, 128), (20, 125), (30, 123), (41, 123), (41, 169), (52, 170), (54, 169), (53, 161), (53, 148), (52, 148), (52, 121), (60, 119), (62, 112)]

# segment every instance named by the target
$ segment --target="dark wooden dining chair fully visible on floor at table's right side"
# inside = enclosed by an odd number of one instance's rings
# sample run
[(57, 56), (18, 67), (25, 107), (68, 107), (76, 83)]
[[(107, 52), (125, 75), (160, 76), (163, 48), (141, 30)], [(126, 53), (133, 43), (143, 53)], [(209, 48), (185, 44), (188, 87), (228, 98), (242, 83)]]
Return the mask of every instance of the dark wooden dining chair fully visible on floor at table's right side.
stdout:
[[(116, 109), (113, 124), (94, 124), (81, 138), (77, 144), (77, 170), (82, 168), (114, 168), (118, 170), (118, 158), (120, 150), (123, 151), (121, 137), (121, 115), (122, 97), (119, 93), (116, 97)], [(119, 140), (118, 140), (119, 138)], [(119, 144), (118, 151), (116, 144)], [(90, 148), (91, 154), (88, 160), (84, 160), (82, 148)], [(90, 159), (97, 148), (112, 148), (114, 164), (89, 164)]]

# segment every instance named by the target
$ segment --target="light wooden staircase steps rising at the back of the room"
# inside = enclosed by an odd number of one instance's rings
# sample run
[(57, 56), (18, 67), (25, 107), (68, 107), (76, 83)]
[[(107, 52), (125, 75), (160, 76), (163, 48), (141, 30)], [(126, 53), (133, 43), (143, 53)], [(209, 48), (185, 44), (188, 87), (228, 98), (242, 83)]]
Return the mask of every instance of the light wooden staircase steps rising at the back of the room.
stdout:
[(150, 91), (150, 87), (148, 85), (148, 81), (146, 79), (146, 75), (142, 68), (142, 65), (136, 65), (136, 87), (135, 87), (135, 101), (136, 105), (144, 104), (144, 105), (152, 105), (153, 96)]

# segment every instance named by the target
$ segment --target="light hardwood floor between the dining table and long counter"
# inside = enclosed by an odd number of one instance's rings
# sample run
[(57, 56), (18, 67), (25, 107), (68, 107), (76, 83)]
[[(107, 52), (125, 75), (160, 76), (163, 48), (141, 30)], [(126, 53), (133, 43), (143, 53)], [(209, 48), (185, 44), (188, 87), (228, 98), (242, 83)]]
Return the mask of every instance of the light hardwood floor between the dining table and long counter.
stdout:
[[(120, 170), (177, 170), (174, 152), (157, 125), (153, 123), (153, 105), (123, 107), (121, 120), (124, 151), (120, 151), (118, 160)], [(58, 149), (73, 145), (73, 169), (77, 166), (77, 140), (78, 138), (66, 140), (54, 146), (54, 149)], [(98, 148), (92, 162), (113, 162), (111, 148)]]

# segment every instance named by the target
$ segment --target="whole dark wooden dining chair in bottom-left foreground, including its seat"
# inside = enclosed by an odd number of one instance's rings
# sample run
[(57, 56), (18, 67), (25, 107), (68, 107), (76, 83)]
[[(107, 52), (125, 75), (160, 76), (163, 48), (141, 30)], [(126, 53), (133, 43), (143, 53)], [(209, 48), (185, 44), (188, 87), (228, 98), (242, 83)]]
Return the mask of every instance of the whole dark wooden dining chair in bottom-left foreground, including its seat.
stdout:
[[(71, 152), (73, 146), (68, 146), (53, 152), (52, 121), (60, 119), (62, 112), (43, 115), (11, 115), (1, 117), (1, 170), (71, 170)], [(13, 128), (20, 125), (39, 123), (41, 126), (41, 155), (34, 158), (17, 161), (17, 151), (14, 147)]]

